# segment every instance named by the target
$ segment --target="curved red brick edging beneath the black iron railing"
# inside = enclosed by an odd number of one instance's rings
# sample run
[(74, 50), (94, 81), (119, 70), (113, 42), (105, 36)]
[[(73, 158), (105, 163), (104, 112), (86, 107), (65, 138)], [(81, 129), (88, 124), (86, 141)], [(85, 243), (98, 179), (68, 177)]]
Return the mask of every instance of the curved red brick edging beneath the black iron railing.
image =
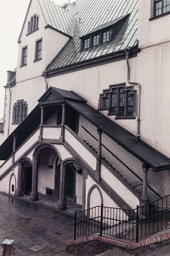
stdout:
[(143, 246), (146, 246), (148, 244), (154, 244), (156, 242), (166, 241), (168, 239), (170, 239), (170, 233), (161, 234), (157, 237), (149, 237), (148, 239), (141, 240), (140, 242), (125, 242), (125, 240), (117, 239), (115, 237), (114, 238), (112, 238), (112, 237), (100, 237), (98, 235), (94, 235), (92, 237), (85, 237), (85, 238), (80, 238), (80, 239), (77, 239), (77, 240), (72, 240), (70, 242), (67, 242), (67, 244), (65, 244), (65, 249), (67, 249), (67, 247), (69, 245), (82, 244), (84, 242), (90, 242), (90, 241), (93, 241), (93, 240), (98, 240), (100, 242), (113, 244), (115, 246), (123, 247), (123, 248), (126, 248), (126, 249), (136, 249), (138, 247), (143, 247)]

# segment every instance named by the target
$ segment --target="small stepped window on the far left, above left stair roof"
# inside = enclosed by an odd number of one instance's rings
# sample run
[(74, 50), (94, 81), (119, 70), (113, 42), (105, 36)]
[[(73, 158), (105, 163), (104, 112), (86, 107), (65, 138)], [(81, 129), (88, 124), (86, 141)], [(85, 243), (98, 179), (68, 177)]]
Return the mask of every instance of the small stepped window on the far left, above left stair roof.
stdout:
[(12, 123), (22, 123), (27, 117), (27, 102), (24, 100), (18, 100), (13, 107), (13, 120)]

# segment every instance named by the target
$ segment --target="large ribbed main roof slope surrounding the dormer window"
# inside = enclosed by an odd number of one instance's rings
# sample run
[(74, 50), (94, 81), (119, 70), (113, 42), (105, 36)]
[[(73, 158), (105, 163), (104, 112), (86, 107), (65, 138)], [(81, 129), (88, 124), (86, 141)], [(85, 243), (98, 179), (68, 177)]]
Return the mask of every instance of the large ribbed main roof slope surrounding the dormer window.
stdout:
[[(48, 73), (63, 69), (77, 63), (83, 63), (95, 58), (110, 56), (123, 51), (126, 46), (137, 45), (138, 0), (77, 0), (66, 7), (67, 12), (75, 15), (75, 35), (67, 42), (60, 53), (47, 66)], [(80, 50), (82, 35), (101, 29), (103, 25), (113, 25), (116, 20), (129, 16), (124, 20), (113, 40), (98, 45), (95, 48)]]

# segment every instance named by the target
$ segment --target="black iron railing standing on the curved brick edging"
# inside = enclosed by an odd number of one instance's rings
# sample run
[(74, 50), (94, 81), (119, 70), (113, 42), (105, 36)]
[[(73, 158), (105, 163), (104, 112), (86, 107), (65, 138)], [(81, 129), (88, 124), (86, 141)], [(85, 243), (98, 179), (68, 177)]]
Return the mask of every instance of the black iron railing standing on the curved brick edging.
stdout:
[(75, 212), (76, 237), (103, 234), (128, 240), (157, 233), (170, 224), (170, 195), (135, 209), (95, 206)]

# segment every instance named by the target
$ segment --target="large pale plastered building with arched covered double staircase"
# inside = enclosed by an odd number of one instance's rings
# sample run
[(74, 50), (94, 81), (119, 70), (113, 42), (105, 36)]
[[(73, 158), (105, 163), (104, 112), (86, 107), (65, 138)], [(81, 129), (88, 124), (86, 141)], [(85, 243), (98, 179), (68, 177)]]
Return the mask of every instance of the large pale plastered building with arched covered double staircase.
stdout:
[(5, 86), (1, 192), (61, 210), (170, 193), (169, 6), (30, 1)]

